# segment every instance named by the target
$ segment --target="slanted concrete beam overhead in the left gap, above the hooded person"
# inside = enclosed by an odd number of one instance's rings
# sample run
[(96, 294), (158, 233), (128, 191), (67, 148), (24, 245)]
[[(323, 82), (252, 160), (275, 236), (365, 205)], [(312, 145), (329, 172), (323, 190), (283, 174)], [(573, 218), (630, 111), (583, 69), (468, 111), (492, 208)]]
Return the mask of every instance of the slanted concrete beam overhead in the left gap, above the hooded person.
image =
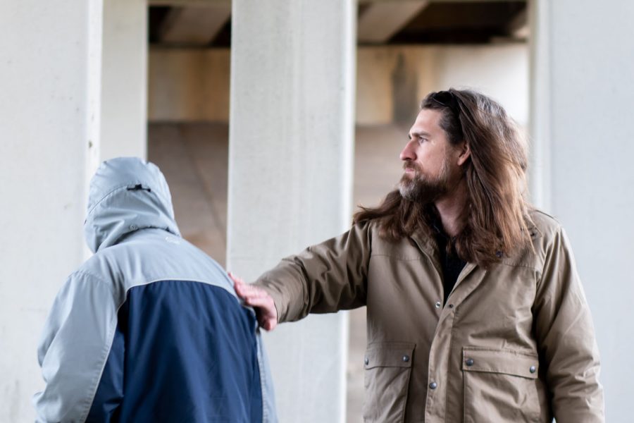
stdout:
[(173, 8), (161, 24), (161, 42), (207, 45), (231, 16), (231, 4)]

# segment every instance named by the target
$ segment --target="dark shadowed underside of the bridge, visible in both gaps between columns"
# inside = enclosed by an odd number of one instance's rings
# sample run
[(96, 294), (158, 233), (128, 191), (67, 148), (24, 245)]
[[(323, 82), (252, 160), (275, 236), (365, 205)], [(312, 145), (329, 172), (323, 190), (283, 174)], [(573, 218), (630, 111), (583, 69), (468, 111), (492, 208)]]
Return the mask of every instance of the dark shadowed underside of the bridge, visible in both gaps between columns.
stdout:
[[(149, 0), (149, 42), (229, 47), (230, 0)], [(526, 0), (359, 0), (359, 44), (489, 44), (528, 37)]]

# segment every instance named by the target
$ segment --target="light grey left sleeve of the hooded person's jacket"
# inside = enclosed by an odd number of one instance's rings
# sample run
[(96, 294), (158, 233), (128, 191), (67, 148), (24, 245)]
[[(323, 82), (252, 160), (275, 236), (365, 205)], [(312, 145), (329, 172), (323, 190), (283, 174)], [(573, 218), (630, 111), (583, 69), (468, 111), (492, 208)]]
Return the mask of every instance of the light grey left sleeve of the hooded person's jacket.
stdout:
[(84, 422), (116, 329), (108, 284), (85, 273), (58, 293), (37, 350), (44, 390), (33, 397), (36, 422)]

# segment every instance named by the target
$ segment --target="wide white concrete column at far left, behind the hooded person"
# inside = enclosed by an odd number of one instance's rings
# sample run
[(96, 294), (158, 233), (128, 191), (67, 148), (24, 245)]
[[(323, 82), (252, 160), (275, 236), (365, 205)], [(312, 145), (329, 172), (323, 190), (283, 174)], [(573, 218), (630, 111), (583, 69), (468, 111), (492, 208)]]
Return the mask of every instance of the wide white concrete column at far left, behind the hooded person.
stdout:
[(35, 419), (36, 348), (85, 258), (87, 183), (99, 158), (101, 0), (0, 4), (0, 422)]

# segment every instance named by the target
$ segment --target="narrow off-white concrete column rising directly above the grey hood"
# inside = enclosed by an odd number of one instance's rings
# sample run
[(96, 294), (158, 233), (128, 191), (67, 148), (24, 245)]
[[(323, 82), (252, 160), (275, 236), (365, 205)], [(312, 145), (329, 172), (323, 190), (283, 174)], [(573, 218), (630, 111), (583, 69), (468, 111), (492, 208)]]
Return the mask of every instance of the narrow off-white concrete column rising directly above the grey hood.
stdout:
[(104, 1), (101, 158), (147, 157), (147, 1)]

